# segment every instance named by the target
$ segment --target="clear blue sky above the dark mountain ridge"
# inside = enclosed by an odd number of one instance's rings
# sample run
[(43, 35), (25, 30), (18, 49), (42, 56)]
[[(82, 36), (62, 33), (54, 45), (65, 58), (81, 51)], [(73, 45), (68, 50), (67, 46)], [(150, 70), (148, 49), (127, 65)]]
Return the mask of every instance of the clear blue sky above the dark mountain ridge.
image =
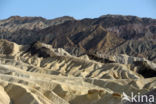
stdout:
[(156, 0), (0, 0), (0, 19), (14, 15), (82, 19), (106, 14), (156, 19)]

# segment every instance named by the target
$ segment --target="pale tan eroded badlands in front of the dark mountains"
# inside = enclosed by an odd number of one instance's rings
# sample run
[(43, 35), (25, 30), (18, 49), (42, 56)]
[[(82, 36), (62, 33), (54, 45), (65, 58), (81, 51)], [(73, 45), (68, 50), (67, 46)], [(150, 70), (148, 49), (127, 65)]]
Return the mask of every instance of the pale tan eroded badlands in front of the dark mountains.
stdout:
[(16, 46), (14, 54), (0, 53), (0, 104), (121, 104), (123, 92), (148, 94), (156, 88), (156, 64), (144, 58), (77, 57), (39, 41), (0, 43)]

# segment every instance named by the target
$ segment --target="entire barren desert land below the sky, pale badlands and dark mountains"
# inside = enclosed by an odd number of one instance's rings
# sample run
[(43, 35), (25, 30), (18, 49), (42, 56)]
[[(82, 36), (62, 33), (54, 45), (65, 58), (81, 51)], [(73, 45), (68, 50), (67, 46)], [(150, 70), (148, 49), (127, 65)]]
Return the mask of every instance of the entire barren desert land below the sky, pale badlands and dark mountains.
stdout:
[(137, 104), (123, 92), (156, 93), (155, 19), (10, 17), (0, 37), (0, 104)]

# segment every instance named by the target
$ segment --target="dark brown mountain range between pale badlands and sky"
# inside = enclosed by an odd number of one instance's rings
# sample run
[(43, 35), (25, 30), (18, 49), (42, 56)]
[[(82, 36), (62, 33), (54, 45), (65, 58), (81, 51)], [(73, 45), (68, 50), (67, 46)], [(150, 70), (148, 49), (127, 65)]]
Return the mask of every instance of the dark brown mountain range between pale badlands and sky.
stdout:
[(0, 38), (24, 45), (41, 41), (77, 56), (127, 54), (156, 62), (156, 19), (151, 18), (104, 15), (94, 19), (64, 16), (47, 20), (12, 16), (0, 21)]

